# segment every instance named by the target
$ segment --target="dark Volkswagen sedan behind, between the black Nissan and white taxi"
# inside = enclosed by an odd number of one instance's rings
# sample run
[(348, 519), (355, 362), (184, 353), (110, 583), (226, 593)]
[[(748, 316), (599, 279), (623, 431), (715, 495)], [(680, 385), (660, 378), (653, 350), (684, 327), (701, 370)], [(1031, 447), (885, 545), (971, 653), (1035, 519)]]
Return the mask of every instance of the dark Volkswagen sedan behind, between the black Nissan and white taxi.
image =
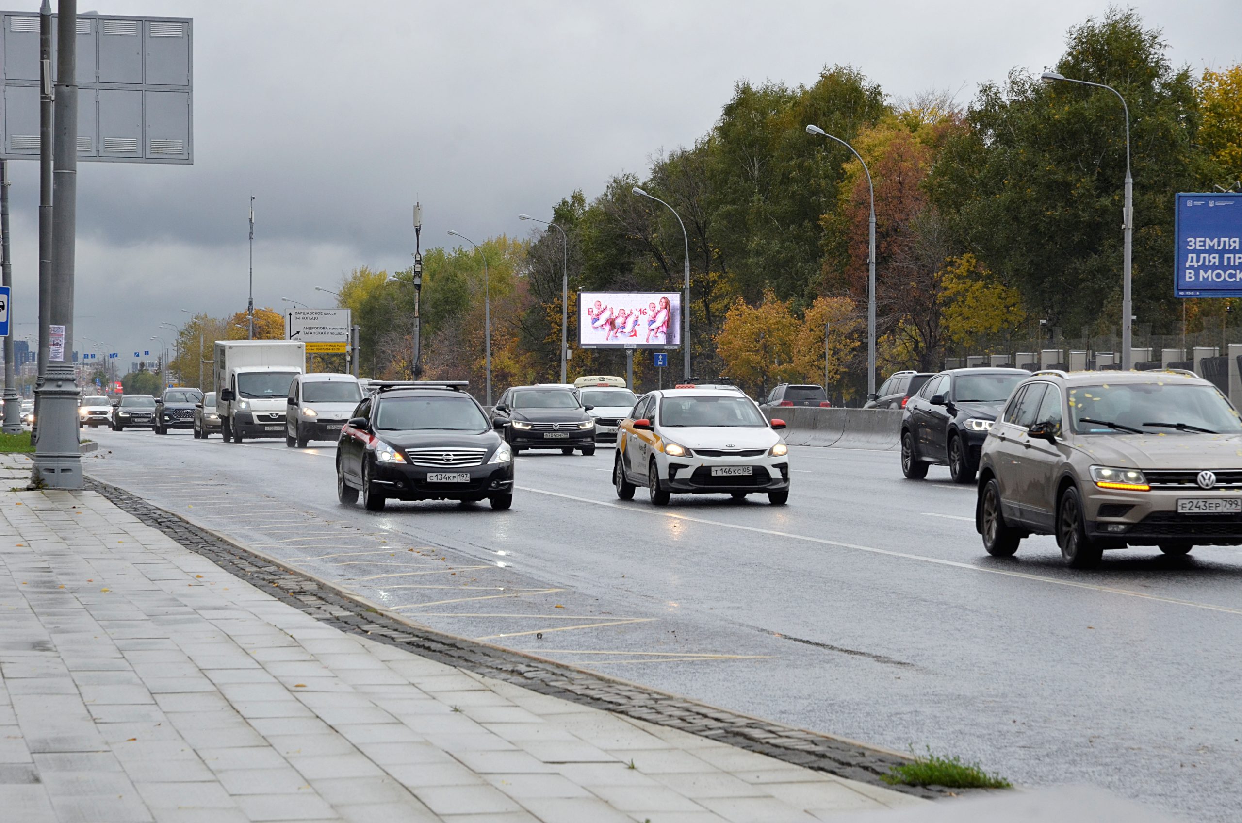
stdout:
[(548, 385), (519, 385), (496, 402), (494, 421), (504, 439), (523, 449), (560, 449), (561, 454), (595, 454), (595, 418), (587, 414), (571, 389)]

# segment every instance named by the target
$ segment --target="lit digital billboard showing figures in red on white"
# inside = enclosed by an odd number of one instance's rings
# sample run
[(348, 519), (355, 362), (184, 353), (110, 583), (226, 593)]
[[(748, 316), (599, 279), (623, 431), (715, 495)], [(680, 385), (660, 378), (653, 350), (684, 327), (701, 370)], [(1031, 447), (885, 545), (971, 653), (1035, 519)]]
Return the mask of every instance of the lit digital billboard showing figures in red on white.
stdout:
[(679, 292), (578, 292), (580, 348), (677, 348), (681, 343)]

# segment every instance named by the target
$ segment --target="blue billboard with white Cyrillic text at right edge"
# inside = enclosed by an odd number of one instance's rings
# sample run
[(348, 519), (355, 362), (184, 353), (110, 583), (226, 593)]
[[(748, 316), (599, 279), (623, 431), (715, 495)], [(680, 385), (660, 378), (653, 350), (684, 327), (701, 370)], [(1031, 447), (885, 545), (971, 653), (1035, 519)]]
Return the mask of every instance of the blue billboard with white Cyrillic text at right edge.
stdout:
[(1242, 297), (1242, 194), (1179, 194), (1177, 297)]

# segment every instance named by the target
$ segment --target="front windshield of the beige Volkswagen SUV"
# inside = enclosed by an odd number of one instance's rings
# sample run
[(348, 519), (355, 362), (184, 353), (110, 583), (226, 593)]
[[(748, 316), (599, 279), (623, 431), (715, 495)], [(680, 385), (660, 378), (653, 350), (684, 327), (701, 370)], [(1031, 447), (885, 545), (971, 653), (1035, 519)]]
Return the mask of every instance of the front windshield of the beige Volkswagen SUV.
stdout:
[(1068, 392), (1078, 434), (1242, 431), (1238, 413), (1211, 385), (1169, 384), (1154, 377), (1150, 383), (1102, 383)]

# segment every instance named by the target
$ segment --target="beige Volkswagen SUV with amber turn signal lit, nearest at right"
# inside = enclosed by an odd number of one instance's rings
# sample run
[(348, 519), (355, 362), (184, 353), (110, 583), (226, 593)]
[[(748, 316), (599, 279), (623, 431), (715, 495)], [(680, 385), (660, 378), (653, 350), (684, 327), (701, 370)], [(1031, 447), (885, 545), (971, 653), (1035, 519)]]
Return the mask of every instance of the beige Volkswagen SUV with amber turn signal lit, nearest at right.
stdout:
[(1242, 420), (1190, 372), (1037, 372), (984, 443), (975, 528), (999, 557), (1056, 535), (1073, 567), (1240, 545)]

